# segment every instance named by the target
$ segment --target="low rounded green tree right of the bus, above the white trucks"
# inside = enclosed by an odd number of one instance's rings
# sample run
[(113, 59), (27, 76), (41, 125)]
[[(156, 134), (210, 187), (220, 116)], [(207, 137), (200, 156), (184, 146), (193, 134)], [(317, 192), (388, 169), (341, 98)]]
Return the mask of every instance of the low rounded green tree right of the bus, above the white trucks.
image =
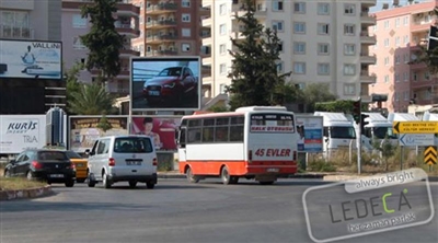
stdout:
[(318, 102), (330, 102), (336, 100), (336, 95), (330, 92), (328, 84), (325, 83), (308, 84), (302, 92), (304, 104), (308, 106), (309, 112), (314, 112), (314, 105)]

